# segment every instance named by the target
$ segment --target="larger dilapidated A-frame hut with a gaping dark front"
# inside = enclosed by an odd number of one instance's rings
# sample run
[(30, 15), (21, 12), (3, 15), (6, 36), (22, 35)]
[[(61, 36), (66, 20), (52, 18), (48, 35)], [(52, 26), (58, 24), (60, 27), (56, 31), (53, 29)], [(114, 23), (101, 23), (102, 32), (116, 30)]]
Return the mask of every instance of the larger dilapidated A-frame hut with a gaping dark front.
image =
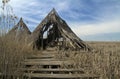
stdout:
[(91, 50), (58, 15), (55, 9), (42, 20), (32, 33), (34, 48), (45, 49), (58, 47), (59, 49)]

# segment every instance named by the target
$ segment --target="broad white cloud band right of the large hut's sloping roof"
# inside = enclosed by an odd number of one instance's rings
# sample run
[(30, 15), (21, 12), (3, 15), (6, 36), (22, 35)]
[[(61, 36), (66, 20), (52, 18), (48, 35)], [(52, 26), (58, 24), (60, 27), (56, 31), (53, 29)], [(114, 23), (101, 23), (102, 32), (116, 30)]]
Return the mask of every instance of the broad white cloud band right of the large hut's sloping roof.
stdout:
[(84, 25), (72, 23), (70, 26), (78, 36), (120, 32), (120, 22), (118, 21)]

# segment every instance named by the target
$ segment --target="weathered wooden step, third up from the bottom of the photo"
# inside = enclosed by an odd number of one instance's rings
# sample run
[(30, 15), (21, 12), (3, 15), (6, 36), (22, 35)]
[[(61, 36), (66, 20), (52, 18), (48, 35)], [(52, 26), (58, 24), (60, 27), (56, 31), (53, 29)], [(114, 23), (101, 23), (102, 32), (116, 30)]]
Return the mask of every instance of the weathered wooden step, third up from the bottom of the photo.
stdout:
[(27, 61), (23, 62), (24, 65), (71, 65), (73, 61)]

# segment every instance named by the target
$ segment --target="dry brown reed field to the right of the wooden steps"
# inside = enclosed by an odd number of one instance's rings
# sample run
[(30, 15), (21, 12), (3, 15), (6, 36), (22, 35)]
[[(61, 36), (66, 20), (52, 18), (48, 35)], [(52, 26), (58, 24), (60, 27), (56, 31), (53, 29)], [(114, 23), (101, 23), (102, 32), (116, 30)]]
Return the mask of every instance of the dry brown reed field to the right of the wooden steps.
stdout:
[(73, 68), (82, 68), (88, 74), (100, 76), (100, 79), (120, 79), (120, 43), (88, 43), (96, 51), (91, 53), (64, 51), (59, 57), (67, 55), (70, 59), (74, 60)]

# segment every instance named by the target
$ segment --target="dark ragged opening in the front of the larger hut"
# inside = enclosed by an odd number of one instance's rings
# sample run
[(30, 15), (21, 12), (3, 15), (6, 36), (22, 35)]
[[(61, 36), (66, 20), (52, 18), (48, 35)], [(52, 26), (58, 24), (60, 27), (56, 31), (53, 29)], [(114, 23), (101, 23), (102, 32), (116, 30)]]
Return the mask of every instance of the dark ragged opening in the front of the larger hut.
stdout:
[(45, 25), (41, 31), (42, 35), (40, 37), (40, 42), (38, 43), (41, 47), (40, 49), (46, 49), (47, 47), (55, 47), (61, 39), (61, 34), (58, 30), (57, 24), (51, 23), (50, 25)]

